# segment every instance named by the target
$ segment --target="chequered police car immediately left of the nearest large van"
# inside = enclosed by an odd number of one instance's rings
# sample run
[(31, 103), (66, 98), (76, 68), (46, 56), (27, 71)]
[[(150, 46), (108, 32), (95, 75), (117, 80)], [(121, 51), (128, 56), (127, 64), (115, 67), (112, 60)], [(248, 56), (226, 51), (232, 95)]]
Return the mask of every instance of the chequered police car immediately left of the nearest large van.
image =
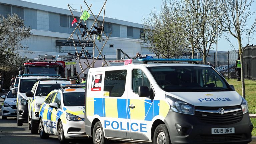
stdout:
[(62, 89), (51, 91), (40, 107), (39, 134), (58, 135), (60, 143), (68, 138), (87, 137), (84, 129), (85, 89), (83, 84), (61, 84)]

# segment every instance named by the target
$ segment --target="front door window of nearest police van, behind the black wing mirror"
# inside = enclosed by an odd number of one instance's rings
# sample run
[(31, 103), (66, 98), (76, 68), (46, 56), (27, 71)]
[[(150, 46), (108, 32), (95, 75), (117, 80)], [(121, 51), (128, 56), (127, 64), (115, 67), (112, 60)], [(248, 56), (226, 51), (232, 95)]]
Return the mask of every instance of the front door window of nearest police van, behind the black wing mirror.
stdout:
[(148, 86), (150, 88), (150, 82), (145, 73), (140, 69), (132, 70), (132, 90), (138, 93), (139, 86)]

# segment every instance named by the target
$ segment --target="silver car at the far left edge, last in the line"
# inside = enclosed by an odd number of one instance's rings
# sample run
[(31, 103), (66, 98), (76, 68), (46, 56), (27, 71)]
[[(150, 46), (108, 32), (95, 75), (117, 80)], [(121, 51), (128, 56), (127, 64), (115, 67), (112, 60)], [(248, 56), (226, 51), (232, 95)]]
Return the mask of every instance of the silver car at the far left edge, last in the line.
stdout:
[(2, 104), (2, 119), (7, 119), (7, 117), (17, 117), (17, 89), (18, 88), (12, 88), (7, 96), (1, 96), (1, 98), (4, 99)]

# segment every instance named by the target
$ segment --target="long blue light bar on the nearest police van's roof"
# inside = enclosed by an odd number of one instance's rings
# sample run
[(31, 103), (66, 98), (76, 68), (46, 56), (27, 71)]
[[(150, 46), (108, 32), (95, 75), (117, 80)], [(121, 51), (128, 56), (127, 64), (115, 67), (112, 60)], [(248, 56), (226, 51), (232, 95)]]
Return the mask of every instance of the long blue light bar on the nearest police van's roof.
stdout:
[(202, 59), (155, 59), (155, 58), (142, 58), (138, 59), (138, 61), (143, 61), (143, 64), (147, 64), (148, 62), (194, 62), (198, 64)]

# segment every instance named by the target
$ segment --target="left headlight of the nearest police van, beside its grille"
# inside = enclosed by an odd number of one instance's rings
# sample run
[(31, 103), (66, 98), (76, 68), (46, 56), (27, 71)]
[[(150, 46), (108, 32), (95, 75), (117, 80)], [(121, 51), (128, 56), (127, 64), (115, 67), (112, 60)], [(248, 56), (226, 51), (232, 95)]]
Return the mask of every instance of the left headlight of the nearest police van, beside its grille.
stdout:
[(195, 107), (191, 104), (188, 104), (186, 102), (183, 102), (181, 100), (178, 100), (176, 98), (173, 98), (171, 96), (165, 95), (166, 101), (171, 106), (171, 111), (178, 112), (178, 113), (184, 113), (184, 114), (195, 114)]

